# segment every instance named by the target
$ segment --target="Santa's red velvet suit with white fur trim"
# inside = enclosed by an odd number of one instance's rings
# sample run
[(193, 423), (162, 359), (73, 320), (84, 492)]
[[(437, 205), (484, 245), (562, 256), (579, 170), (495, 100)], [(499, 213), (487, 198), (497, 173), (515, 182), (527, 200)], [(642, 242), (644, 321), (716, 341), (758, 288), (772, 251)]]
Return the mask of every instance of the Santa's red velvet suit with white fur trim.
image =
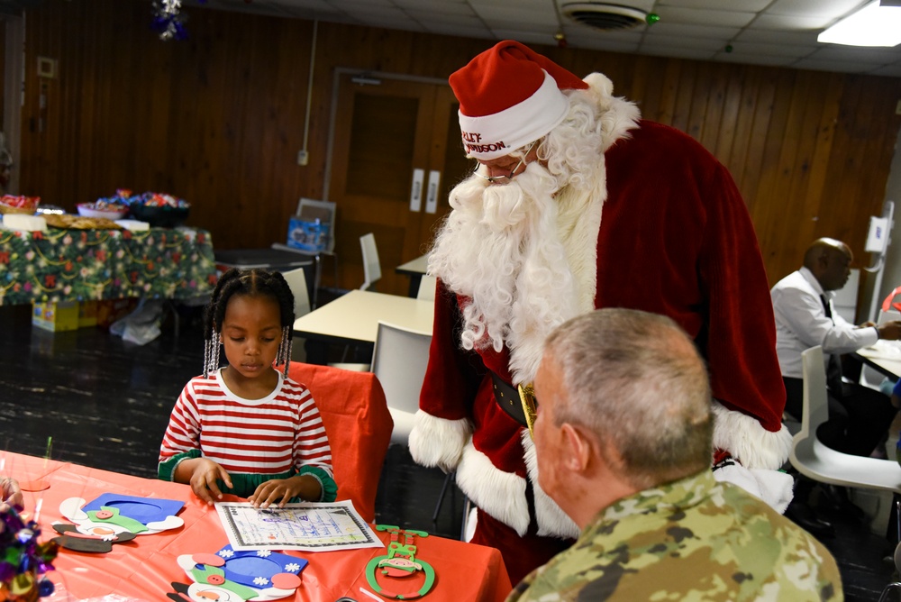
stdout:
[[(563, 207), (581, 207), (560, 214), (574, 311), (629, 307), (675, 320), (708, 363), (714, 447), (746, 470), (778, 470), (791, 442), (781, 424), (785, 390), (769, 283), (742, 197), (699, 143), (659, 123), (633, 122), (633, 105), (611, 96), (603, 76), (586, 82), (618, 124), (603, 134), (598, 161), (605, 169), (597, 181), (558, 196)], [(566, 547), (578, 527), (539, 487), (531, 437), (498, 406), (489, 370), (506, 383), (532, 382), (544, 337), (557, 324), (511, 339), (501, 351), (467, 351), (460, 307), (468, 303), (439, 286), (410, 450), (424, 465), (456, 470), (460, 489), (479, 509), (473, 541), (504, 552), (515, 583)], [(774, 488), (790, 490), (786, 479)]]

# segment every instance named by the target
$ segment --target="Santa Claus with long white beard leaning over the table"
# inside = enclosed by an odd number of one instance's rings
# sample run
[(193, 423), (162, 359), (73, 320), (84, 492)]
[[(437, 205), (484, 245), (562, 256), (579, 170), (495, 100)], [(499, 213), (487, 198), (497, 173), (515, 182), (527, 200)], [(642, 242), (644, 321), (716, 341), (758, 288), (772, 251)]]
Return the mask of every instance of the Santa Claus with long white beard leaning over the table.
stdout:
[(479, 165), (451, 192), (429, 258), (439, 290), (410, 451), (456, 470), (478, 506), (472, 541), (500, 549), (515, 583), (578, 535), (538, 485), (528, 387), (546, 335), (597, 307), (669, 315), (689, 333), (715, 397), (714, 474), (784, 510), (791, 438), (769, 284), (724, 166), (642, 121), (604, 75), (580, 79), (518, 42), (451, 87)]

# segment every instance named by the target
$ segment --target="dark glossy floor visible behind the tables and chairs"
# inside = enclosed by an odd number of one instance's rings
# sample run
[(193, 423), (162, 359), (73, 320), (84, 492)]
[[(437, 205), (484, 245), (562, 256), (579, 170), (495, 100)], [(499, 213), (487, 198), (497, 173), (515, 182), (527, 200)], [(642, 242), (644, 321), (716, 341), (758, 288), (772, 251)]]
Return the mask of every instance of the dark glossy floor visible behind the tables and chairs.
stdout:
[[(179, 314), (178, 335), (169, 318), (157, 340), (138, 346), (100, 328), (45, 332), (32, 328), (29, 307), (0, 306), (0, 447), (42, 456), (52, 437), (54, 460), (155, 477), (169, 410), (203, 357), (196, 314)], [(377, 521), (459, 537), (456, 488), (432, 524), (442, 483), (441, 470), (423, 469), (392, 446)], [(852, 519), (832, 519), (837, 534), (824, 543), (839, 562), (845, 599), (877, 600), (893, 574), (883, 560), (887, 540)]]

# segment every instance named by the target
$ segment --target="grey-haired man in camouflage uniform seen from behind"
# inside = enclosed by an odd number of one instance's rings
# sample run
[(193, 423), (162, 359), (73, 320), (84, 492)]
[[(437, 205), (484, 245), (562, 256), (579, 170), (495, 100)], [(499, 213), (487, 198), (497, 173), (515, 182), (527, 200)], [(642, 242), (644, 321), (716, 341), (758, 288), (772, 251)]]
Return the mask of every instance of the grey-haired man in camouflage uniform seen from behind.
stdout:
[(668, 317), (569, 320), (534, 385), (539, 482), (582, 531), (507, 602), (843, 599), (822, 544), (714, 480), (705, 365)]

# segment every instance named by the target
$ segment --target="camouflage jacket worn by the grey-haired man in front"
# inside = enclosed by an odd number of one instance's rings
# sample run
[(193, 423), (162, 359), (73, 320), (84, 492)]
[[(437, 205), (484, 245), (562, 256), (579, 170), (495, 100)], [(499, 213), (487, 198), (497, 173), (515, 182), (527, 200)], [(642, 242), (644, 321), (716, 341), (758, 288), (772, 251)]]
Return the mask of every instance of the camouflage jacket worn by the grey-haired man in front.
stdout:
[(605, 508), (507, 602), (843, 598), (821, 543), (704, 470)]

